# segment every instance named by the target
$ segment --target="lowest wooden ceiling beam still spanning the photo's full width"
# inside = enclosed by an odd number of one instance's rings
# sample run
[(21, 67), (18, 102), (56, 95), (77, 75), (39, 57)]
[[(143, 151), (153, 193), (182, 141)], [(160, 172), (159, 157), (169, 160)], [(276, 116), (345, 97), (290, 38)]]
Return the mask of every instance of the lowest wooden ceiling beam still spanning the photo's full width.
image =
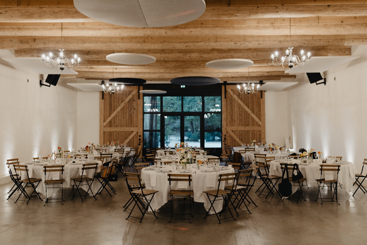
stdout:
[[(359, 38), (345, 38), (345, 39), (295, 39), (292, 41), (288, 38), (283, 40), (254, 40), (241, 41), (247, 37), (241, 36), (221, 36), (218, 42), (149, 42), (146, 43), (124, 43), (124, 42), (109, 42), (105, 38), (90, 38), (90, 37), (68, 37), (63, 38), (62, 47), (65, 50), (141, 50), (146, 52), (148, 50), (204, 50), (204, 49), (247, 49), (247, 48), (286, 48), (291, 44), (293, 47), (308, 48), (310, 50), (317, 49), (322, 46), (345, 46), (347, 43), (364, 44), (366, 35), (361, 35)], [(184, 39), (184, 38), (183, 38)], [(61, 47), (60, 37), (0, 37), (0, 49), (14, 49), (14, 50), (29, 50), (30, 48), (39, 50), (53, 50)], [(144, 51), (143, 51), (144, 50)]]

